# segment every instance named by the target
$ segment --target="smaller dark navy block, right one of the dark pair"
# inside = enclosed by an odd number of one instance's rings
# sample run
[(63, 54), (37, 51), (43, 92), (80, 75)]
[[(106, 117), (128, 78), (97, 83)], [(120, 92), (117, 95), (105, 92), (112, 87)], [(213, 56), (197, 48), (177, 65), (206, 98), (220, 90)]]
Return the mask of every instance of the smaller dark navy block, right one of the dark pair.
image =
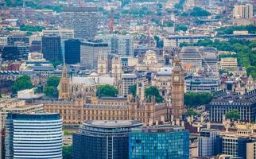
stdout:
[(65, 63), (66, 64), (78, 64), (80, 63), (80, 40), (68, 39), (64, 41), (65, 45)]

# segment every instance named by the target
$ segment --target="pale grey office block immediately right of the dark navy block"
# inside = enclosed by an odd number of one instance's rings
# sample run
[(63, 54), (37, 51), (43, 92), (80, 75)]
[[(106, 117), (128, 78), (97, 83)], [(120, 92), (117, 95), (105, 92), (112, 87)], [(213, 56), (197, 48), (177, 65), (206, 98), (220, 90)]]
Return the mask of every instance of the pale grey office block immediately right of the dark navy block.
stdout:
[(80, 62), (88, 69), (97, 69), (99, 56), (107, 56), (107, 43), (101, 40), (81, 41)]

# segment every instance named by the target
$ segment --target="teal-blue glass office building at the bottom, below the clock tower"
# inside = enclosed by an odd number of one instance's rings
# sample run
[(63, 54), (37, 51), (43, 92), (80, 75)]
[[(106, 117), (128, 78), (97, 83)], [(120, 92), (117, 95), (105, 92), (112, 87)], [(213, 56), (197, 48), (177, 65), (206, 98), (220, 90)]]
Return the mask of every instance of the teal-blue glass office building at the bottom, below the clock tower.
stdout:
[(189, 134), (184, 127), (161, 125), (132, 130), (130, 159), (188, 159)]

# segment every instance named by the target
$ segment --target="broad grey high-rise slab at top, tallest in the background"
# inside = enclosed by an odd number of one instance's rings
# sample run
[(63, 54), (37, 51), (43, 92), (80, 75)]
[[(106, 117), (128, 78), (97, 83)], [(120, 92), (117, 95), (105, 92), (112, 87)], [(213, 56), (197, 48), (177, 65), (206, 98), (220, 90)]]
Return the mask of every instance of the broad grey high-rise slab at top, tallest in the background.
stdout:
[(60, 14), (64, 28), (74, 29), (75, 38), (94, 39), (100, 21), (97, 7), (67, 7)]

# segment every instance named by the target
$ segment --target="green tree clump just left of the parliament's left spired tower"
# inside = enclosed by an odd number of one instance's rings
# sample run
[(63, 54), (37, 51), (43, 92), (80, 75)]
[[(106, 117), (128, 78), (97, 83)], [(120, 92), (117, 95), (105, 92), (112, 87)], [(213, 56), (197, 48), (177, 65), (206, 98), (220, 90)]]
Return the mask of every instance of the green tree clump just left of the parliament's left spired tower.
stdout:
[(58, 85), (60, 83), (60, 77), (51, 76), (46, 81), (46, 86), (43, 88), (43, 92), (48, 97), (57, 97), (58, 96)]

